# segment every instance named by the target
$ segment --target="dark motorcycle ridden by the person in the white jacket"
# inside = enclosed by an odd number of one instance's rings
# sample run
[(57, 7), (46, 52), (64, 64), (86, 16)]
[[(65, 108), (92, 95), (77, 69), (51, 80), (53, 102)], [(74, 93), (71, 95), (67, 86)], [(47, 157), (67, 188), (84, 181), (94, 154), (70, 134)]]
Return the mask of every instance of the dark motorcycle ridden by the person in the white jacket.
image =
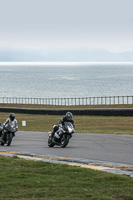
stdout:
[(10, 146), (16, 131), (16, 128), (14, 128), (10, 123), (8, 123), (6, 126), (3, 126), (1, 136), (4, 134), (4, 138), (0, 140), (1, 146), (4, 144)]

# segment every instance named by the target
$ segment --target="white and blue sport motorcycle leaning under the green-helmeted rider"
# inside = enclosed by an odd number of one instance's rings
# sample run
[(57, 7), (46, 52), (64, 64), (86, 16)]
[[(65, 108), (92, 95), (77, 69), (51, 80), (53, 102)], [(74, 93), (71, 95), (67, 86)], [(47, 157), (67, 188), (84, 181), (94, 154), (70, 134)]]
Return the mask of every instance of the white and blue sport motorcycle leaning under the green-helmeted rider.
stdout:
[(65, 122), (64, 126), (59, 126), (54, 134), (52, 134), (52, 132), (48, 133), (48, 146), (54, 147), (55, 145), (58, 145), (61, 148), (65, 148), (74, 131), (73, 125), (70, 122)]

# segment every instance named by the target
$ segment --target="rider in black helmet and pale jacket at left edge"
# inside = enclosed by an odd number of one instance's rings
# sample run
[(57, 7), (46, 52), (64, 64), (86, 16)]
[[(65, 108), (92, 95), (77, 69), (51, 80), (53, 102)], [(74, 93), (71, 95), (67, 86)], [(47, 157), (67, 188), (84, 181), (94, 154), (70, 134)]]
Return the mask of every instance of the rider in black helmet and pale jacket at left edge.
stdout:
[[(9, 118), (6, 119), (6, 121), (3, 124), (3, 128), (7, 125), (10, 124), (13, 128), (16, 129), (16, 131), (18, 130), (18, 124), (17, 124), (17, 120), (15, 119), (15, 114), (14, 113), (10, 113), (9, 114)], [(3, 143), (5, 143), (5, 136), (6, 136), (7, 130), (3, 130), (2, 131), (2, 136), (1, 136), (1, 141)], [(13, 133), (13, 136), (15, 136), (15, 133)]]

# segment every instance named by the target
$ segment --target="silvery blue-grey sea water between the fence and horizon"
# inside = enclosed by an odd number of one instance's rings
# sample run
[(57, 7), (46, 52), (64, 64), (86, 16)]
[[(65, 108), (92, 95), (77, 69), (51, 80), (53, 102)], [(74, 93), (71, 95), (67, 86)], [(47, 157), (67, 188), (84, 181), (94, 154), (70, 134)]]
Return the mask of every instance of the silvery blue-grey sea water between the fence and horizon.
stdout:
[(0, 65), (0, 97), (133, 96), (133, 64)]

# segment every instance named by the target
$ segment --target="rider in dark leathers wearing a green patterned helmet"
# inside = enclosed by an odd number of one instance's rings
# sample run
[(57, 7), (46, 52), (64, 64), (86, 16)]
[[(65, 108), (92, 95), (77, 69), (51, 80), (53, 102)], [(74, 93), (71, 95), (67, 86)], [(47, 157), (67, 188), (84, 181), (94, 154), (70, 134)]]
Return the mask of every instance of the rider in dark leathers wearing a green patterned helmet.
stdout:
[(71, 112), (67, 112), (66, 115), (59, 120), (58, 125), (54, 125), (53, 126), (52, 136), (55, 134), (56, 131), (58, 132), (59, 127), (63, 127), (65, 125), (65, 122), (72, 123), (72, 125), (73, 125), (73, 127), (75, 129), (75, 123), (74, 123), (74, 120), (73, 120), (73, 114)]

